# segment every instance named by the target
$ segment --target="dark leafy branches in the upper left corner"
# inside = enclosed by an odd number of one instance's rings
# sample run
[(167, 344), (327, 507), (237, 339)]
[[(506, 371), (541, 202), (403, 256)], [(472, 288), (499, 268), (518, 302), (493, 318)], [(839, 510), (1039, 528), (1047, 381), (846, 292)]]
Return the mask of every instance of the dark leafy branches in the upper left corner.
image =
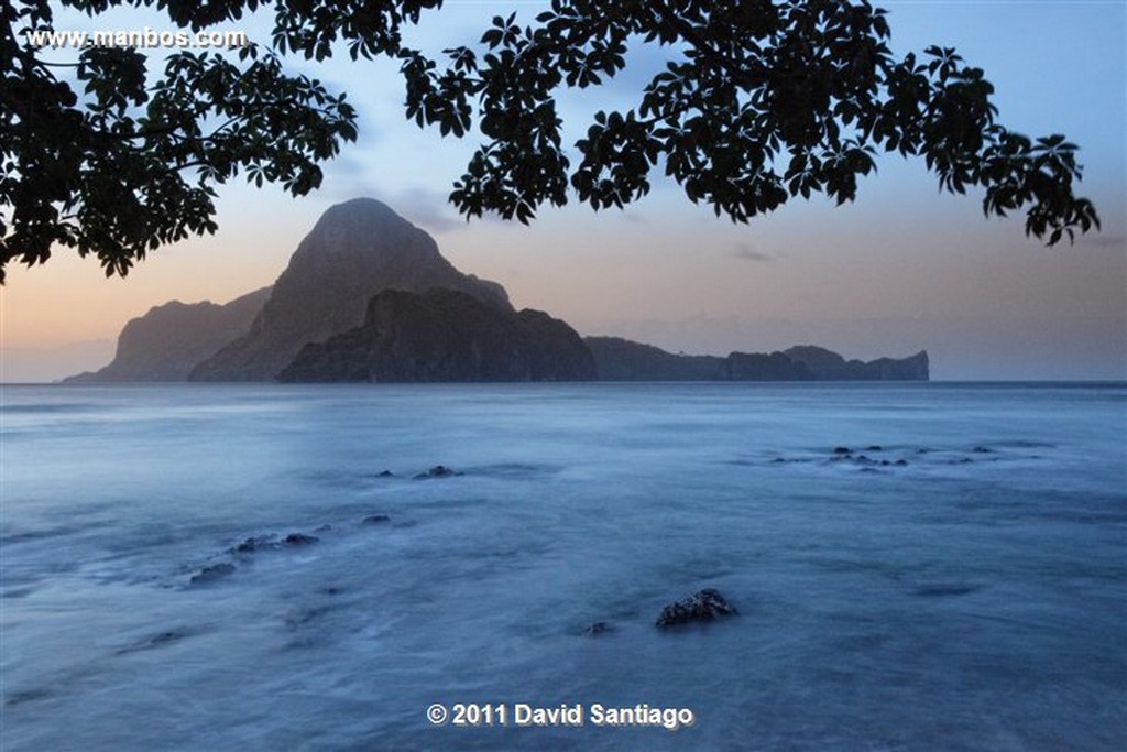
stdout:
[[(91, 16), (153, 6), (199, 30), (260, 0), (68, 0)], [(50, 62), (29, 43), (54, 30), (47, 0), (0, 6), (0, 282), (10, 260), (44, 263), (59, 247), (125, 275), (157, 247), (214, 232), (215, 186), (242, 174), (293, 195), (356, 139), (344, 94), (287, 73), (283, 54), (323, 57), (337, 37), (354, 54), (397, 48), (398, 28), (437, 0), (276, 2), (274, 48), (177, 52), (156, 73), (137, 50), (87, 47)], [(350, 6), (350, 7), (349, 7)], [(373, 12), (362, 12), (371, 7)], [(348, 20), (340, 14), (357, 14)]]

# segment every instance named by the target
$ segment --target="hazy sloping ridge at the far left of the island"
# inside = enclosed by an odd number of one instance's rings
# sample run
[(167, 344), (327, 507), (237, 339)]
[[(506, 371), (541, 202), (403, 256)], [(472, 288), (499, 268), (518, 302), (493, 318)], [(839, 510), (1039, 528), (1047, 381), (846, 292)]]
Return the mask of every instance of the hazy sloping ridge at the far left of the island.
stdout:
[(269, 293), (263, 287), (225, 306), (177, 300), (157, 306), (125, 325), (109, 365), (64, 383), (187, 381), (196, 363), (247, 333)]

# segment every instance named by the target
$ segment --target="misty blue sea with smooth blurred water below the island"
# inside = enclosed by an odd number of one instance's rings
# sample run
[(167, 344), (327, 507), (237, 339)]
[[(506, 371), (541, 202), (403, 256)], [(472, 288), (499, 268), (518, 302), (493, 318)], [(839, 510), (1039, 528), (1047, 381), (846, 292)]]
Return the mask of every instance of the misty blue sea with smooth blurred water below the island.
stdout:
[[(1127, 749), (1127, 386), (7, 386), (0, 749)], [(715, 589), (738, 613), (656, 626)]]

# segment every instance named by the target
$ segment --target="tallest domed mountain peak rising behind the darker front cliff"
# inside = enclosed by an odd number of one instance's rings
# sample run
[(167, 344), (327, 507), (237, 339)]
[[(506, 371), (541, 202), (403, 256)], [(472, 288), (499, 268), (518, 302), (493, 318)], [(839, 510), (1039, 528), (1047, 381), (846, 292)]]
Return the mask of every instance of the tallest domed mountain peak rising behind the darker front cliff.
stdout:
[(383, 290), (463, 291), (512, 311), (504, 287), (462, 274), (434, 239), (373, 198), (329, 209), (301, 241), (250, 330), (190, 373), (201, 381), (267, 381), (307, 343), (358, 326)]

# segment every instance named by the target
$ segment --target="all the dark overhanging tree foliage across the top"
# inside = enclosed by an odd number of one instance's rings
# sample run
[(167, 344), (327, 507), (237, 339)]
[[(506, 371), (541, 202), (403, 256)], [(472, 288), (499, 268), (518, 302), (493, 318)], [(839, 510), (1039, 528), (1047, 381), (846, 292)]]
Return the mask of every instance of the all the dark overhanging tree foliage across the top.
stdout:
[[(983, 211), (1026, 210), (1053, 245), (1099, 227), (1074, 195), (1076, 145), (995, 122), (993, 87), (953, 50), (895, 57), (885, 12), (846, 0), (553, 0), (533, 24), (496, 17), (440, 62), (405, 46), (405, 25), (442, 0), (57, 0), (96, 16), (156, 7), (193, 32), (273, 9), (270, 48), (175, 52), (151, 74), (142, 51), (87, 47), (53, 62), (28, 35), (53, 30), (47, 0), (0, 6), (0, 281), (9, 260), (56, 246), (107, 275), (160, 245), (214, 232), (214, 186), (240, 172), (301, 195), (356, 138), (345, 95), (290, 76), (286, 55), (401, 62), (407, 115), (441, 134), (485, 136), (451, 201), (467, 216), (527, 222), (574, 194), (623, 206), (657, 168), (693, 202), (746, 222), (788, 198), (853, 200), (878, 151), (922, 157), (940, 186), (985, 189)], [(625, 112), (601, 112), (575, 150), (556, 94), (598, 86), (631, 45), (668, 48)], [(573, 159), (577, 158), (577, 163)]]

